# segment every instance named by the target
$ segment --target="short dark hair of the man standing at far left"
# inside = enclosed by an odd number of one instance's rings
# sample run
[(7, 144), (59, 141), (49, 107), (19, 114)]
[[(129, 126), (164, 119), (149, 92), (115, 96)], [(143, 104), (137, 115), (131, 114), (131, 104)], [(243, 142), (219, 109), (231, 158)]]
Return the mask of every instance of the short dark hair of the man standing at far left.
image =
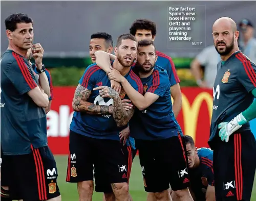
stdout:
[(17, 23), (32, 23), (33, 20), (24, 13), (15, 13), (11, 14), (5, 19), (5, 28), (6, 30), (10, 30), (11, 32), (17, 29)]

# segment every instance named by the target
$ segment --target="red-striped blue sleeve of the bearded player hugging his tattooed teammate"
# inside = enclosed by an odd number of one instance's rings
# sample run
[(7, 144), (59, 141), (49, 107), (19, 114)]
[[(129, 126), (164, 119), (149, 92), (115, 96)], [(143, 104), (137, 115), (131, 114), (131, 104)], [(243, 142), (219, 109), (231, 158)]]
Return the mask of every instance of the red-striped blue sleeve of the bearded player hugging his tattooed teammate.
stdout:
[(166, 89), (170, 87), (169, 78), (166, 72), (154, 70), (152, 73), (152, 85), (149, 86), (146, 92), (155, 93), (162, 97)]

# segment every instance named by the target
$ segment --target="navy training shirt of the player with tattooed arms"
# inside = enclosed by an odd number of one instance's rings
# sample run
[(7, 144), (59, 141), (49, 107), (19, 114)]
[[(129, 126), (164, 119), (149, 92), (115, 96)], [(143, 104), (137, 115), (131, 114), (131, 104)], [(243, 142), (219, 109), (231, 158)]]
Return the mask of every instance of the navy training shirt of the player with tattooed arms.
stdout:
[[(139, 77), (130, 70), (125, 76), (126, 80), (133, 86), (135, 90), (143, 93), (143, 86)], [(98, 86), (111, 87), (110, 80), (106, 73), (100, 69), (96, 64), (91, 64), (84, 71), (79, 84), (84, 88), (92, 91), (88, 102), (95, 105), (113, 105), (112, 98), (102, 98), (99, 95), (99, 90), (93, 91), (93, 88)], [(124, 90), (120, 93), (121, 98), (129, 99)], [(126, 126), (125, 126), (126, 127)], [(70, 130), (81, 135), (85, 135), (98, 139), (111, 139), (119, 140), (119, 132), (125, 127), (117, 127), (117, 124), (110, 115), (90, 115), (83, 112), (74, 112), (72, 122), (70, 124)]]

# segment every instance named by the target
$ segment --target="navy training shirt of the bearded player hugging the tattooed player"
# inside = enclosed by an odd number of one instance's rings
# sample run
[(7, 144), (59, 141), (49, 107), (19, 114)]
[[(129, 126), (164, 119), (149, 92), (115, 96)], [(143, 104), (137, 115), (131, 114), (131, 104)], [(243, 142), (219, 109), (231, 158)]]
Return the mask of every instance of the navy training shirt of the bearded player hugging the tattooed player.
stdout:
[(130, 120), (130, 134), (135, 139), (160, 140), (178, 135), (180, 129), (172, 110), (170, 83), (166, 70), (154, 67), (153, 73), (141, 78), (144, 94), (159, 95), (159, 98), (143, 111), (135, 110)]

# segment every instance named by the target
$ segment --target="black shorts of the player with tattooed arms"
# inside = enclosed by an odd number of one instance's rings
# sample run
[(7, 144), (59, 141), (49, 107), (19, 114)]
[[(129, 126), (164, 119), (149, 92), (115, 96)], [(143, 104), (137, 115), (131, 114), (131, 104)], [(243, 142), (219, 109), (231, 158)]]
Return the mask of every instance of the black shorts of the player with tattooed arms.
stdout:
[(67, 182), (93, 181), (93, 176), (96, 186), (127, 182), (132, 163), (120, 141), (91, 138), (73, 131), (69, 139)]

